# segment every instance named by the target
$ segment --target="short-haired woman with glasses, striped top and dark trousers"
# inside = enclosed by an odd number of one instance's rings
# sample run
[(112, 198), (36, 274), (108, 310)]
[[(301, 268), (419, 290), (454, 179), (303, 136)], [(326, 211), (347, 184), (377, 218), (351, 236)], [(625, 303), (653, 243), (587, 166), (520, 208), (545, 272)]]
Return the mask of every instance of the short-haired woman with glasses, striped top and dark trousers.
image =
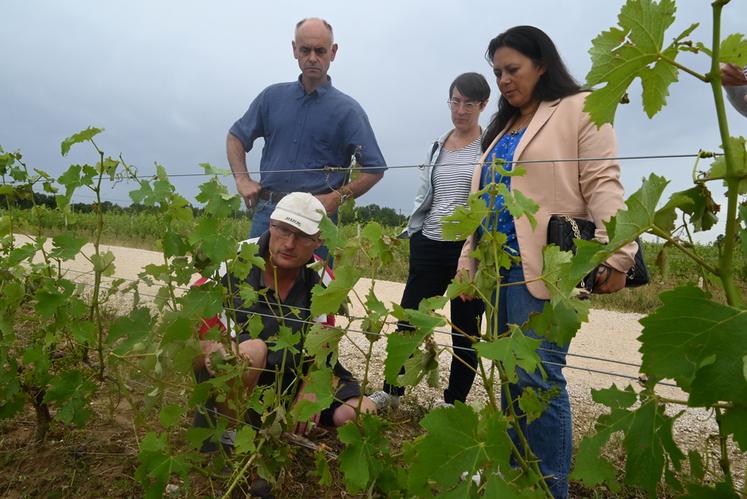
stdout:
[[(459, 75), (449, 87), (446, 101), (454, 128), (428, 147), (420, 187), (407, 229), (401, 237), (410, 238), (410, 268), (402, 295), (404, 308), (417, 309), (423, 298), (440, 296), (456, 274), (463, 241), (447, 241), (441, 233), (441, 219), (466, 204), (474, 165), (480, 158), (480, 113), (490, 97), (490, 85), (479, 73)], [(449, 385), (439, 405), (464, 402), (472, 388), (477, 356), (472, 339), (479, 332), (483, 304), (480, 300), (451, 301), (452, 342)], [(406, 322), (399, 331), (411, 329)], [(379, 410), (396, 408), (404, 387), (384, 384), (383, 391), (371, 395)]]

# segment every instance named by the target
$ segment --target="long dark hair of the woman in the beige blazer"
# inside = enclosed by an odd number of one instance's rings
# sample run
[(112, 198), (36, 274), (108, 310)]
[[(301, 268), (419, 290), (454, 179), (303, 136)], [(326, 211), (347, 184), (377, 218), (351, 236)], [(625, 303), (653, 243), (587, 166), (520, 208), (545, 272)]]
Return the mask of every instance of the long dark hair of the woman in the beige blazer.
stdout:
[[(541, 64), (544, 67), (545, 72), (537, 81), (537, 86), (534, 87), (534, 96), (540, 101), (560, 99), (581, 91), (581, 86), (568, 72), (555, 44), (541, 29), (534, 26), (514, 26), (490, 40), (485, 58), (491, 65), (496, 50), (501, 47), (509, 47), (521, 52), (535, 64)], [(482, 139), (483, 151), (490, 147), (495, 136), (517, 114), (519, 114), (519, 109), (500, 96), (498, 112), (491, 118)]]

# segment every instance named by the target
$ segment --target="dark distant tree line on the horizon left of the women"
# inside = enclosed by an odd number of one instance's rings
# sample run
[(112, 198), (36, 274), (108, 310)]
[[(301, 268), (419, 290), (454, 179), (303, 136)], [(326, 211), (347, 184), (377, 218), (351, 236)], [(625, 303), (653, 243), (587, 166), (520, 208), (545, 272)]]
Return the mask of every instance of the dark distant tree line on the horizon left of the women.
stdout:
[[(16, 193), (17, 194), (17, 193)], [(33, 201), (30, 193), (26, 196), (20, 196), (15, 198), (15, 206), (21, 209), (30, 209), (34, 204), (37, 206), (46, 206), (47, 208), (55, 208), (56, 202), (55, 197), (50, 194), (44, 194), (41, 192), (33, 193)], [(6, 207), (6, 197), (0, 195), (0, 209)], [(74, 212), (77, 213), (91, 213), (94, 210), (94, 203), (71, 203), (70, 207)], [(112, 203), (111, 201), (103, 201), (101, 203), (101, 210), (104, 213), (154, 213), (158, 211), (157, 208), (152, 206), (145, 206), (142, 204), (133, 203), (129, 206), (120, 206)], [(202, 214), (203, 209), (192, 206), (192, 212), (195, 216)], [(243, 210), (236, 211), (232, 214), (234, 218), (240, 218), (245, 216)], [(366, 222), (378, 222), (386, 227), (400, 227), (407, 222), (407, 217), (397, 213), (392, 208), (382, 207), (377, 204), (369, 204), (366, 206), (353, 206), (352, 203), (346, 203), (340, 208), (340, 222), (343, 224), (350, 224), (355, 222), (366, 223)]]

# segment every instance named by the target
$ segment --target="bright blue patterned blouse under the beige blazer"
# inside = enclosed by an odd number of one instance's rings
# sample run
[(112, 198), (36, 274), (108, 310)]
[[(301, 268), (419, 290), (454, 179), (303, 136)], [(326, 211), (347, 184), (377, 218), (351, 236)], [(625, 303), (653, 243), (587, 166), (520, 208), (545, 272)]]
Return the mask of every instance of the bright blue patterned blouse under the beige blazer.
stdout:
[[(513, 169), (514, 151), (516, 151), (516, 145), (519, 143), (521, 138), (524, 136), (526, 128), (522, 128), (516, 133), (506, 133), (501, 137), (493, 147), (493, 150), (488, 154), (485, 164), (482, 167), (482, 173), (480, 175), (480, 189), (485, 187), (490, 182), (502, 183), (506, 187), (511, 189), (511, 177), (504, 176), (500, 171), (496, 170), (491, 179), (491, 166), (493, 160), (502, 159), (506, 161), (503, 168), (507, 171)], [(491, 209), (492, 213), (483, 222), (482, 230), (493, 230), (497, 229), (499, 232), (506, 234), (506, 251), (512, 255), (519, 255), (519, 241), (516, 239), (516, 225), (514, 224), (514, 217), (505, 208), (505, 202), (503, 196), (495, 196), (493, 206), (490, 206), (490, 194), (483, 194), (485, 204)]]

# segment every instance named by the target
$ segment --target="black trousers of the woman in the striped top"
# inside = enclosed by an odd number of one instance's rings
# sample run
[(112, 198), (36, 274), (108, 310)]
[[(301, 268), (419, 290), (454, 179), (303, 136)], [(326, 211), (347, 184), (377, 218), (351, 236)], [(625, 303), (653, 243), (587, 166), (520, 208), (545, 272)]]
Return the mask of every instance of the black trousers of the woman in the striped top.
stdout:
[[(462, 241), (434, 241), (420, 231), (413, 234), (410, 238), (410, 271), (400, 305), (417, 309), (423, 298), (443, 295), (456, 274), (462, 245)], [(451, 322), (455, 326), (451, 331), (451, 341), (455, 349), (451, 359), (449, 386), (444, 390), (444, 401), (450, 404), (455, 400), (464, 402), (467, 399), (475, 380), (474, 369), (477, 367), (477, 353), (472, 348), (472, 341), (459, 330), (478, 337), (484, 310), (482, 300), (451, 300)], [(397, 324), (398, 331), (411, 329), (412, 326), (407, 322)], [(405, 389), (384, 383), (384, 391), (402, 395)]]

